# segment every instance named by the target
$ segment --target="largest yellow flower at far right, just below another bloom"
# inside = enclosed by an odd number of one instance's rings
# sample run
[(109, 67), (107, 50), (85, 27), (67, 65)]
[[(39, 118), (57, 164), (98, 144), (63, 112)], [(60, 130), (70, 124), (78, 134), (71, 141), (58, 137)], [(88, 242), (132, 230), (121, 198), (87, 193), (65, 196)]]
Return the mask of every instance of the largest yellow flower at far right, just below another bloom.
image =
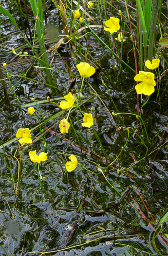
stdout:
[(145, 94), (150, 95), (154, 92), (154, 86), (156, 85), (156, 82), (154, 80), (154, 74), (151, 72), (144, 72), (139, 71), (139, 74), (137, 74), (134, 77), (134, 80), (137, 82), (142, 81), (141, 83), (138, 83), (135, 86), (137, 94)]

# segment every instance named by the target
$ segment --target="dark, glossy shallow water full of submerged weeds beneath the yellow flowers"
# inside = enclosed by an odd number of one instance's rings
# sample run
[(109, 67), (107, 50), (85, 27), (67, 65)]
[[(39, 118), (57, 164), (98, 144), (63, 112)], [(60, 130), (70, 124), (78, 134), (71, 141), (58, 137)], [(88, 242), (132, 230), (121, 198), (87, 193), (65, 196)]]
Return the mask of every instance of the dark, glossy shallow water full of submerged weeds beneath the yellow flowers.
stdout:
[[(118, 9), (125, 13), (124, 4), (117, 2), (116, 4), (118, 4)], [(135, 8), (134, 2), (130, 4)], [(8, 1), (2, 1), (1, 5), (13, 15), (19, 29), (23, 30), (22, 20), (16, 3), (12, 1), (10, 4)], [(45, 31), (45, 46), (46, 49), (49, 49), (53, 46), (50, 37), (52, 37), (56, 44), (60, 39), (58, 35), (64, 34), (64, 31), (61, 17), (55, 5), (47, 1), (47, 6), (48, 11), (45, 12), (44, 24), (51, 33)], [(102, 6), (102, 17), (99, 16), (95, 6), (93, 10), (97, 14), (98, 20), (95, 19), (91, 10), (88, 11), (87, 9), (87, 12), (93, 16), (95, 23), (99, 24), (99, 21), (103, 23), (105, 20), (104, 6)], [(107, 19), (111, 16), (119, 18), (118, 13), (114, 9), (106, 11)], [(129, 12), (132, 17), (135, 17), (133, 9), (130, 8)], [(24, 9), (23, 13), (25, 14)], [(34, 23), (34, 17), (31, 13), (28, 13), (28, 18), (31, 33), (34, 35), (34, 26), (31, 24), (31, 22)], [(23, 20), (29, 37), (24, 16)], [(87, 22), (90, 25), (93, 24), (93, 21)], [(136, 37), (136, 30), (135, 28), (132, 29)], [(107, 33), (103, 29), (93, 28), (93, 30), (109, 45)], [(133, 51), (131, 50), (132, 44), (127, 27), (126, 32), (123, 60), (135, 69)], [(3, 62), (6, 62), (10, 74), (23, 76), (23, 66), (26, 72), (33, 63), (33, 59), (25, 57), (22, 59), (22, 63), (19, 57), (11, 52), (12, 48), (16, 49), (24, 45), (25, 39), (23, 39), (20, 33), (18, 33), (17, 28), (4, 15), (0, 16), (0, 36), (1, 65)], [(115, 33), (114, 37), (117, 37), (117, 33)], [(86, 47), (86, 38), (83, 37), (80, 40), (83, 46)], [(117, 80), (120, 69), (118, 59), (114, 58), (114, 64), (116, 65), (114, 68), (112, 54), (108, 49), (104, 48), (104, 51), (93, 35), (88, 35), (88, 43), (92, 57), (98, 61), (101, 67), (107, 67), (103, 72), (87, 79), (87, 81), (90, 82), (93, 89), (102, 98), (110, 112), (136, 114), (137, 94), (134, 90), (134, 73), (122, 65), (121, 73)], [(116, 53), (117, 48), (114, 42), (112, 47)], [(120, 49), (120, 43), (118, 43), (118, 47)], [(23, 46), (21, 51), (27, 51), (29, 55), (32, 54), (32, 50), (27, 45)], [(16, 50), (16, 52), (19, 53), (19, 50)], [(82, 50), (82, 53), (85, 56), (85, 50)], [(67, 44), (66, 46), (62, 45), (58, 53), (54, 52), (54, 55), (51, 52), (48, 53), (49, 62), (53, 57), (52, 64), (54, 64), (53, 67), (57, 70), (68, 72), (65, 62), (68, 64), (73, 75), (77, 76), (74, 88), (79, 91), (81, 79), (76, 68), (76, 59), (78, 63), (82, 61), (80, 55), (78, 54), (77, 56), (74, 50), (70, 49), (69, 44)], [(84, 58), (83, 61), (86, 61), (86, 59)], [(36, 72), (36, 69), (31, 67), (29, 73), (33, 72)], [(160, 74), (162, 72), (163, 61), (161, 59)], [(35, 81), (25, 78), (19, 81), (17, 76), (11, 78), (23, 113), (11, 91), (9, 81), (5, 80), (7, 89), (10, 91), (9, 97), (12, 109), (10, 112), (7, 111), (5, 102), (3, 100), (0, 101), (1, 143), (15, 138), (19, 128), (33, 129), (38, 125), (36, 118), (28, 114), (27, 106), (29, 106), (29, 103), (32, 103), (31, 98), (35, 98), (38, 102), (39, 100), (47, 99), (47, 96), (59, 98), (66, 95), (72, 81), (71, 76), (59, 71), (54, 72), (54, 70), (51, 73), (55, 80), (54, 85), (59, 90), (46, 85), (47, 81), (44, 71), (28, 77)], [(3, 76), (4, 78), (7, 77), (5, 71), (3, 71)], [(102, 83), (102, 80), (104, 80), (108, 90)], [(160, 95), (163, 92), (165, 83), (166, 79), (164, 78), (161, 81)], [(91, 144), (88, 128), (80, 127), (81, 131), (79, 131), (78, 118), (81, 123), (82, 115), (78, 112), (79, 117), (77, 118), (76, 111), (74, 111), (70, 118), (76, 131), (82, 134), (83, 141), (78, 137), (81, 146), (89, 151), (92, 147), (92, 152), (98, 156), (97, 158), (92, 158), (92, 155), (87, 154), (86, 151), (83, 151), (82, 155), (81, 150), (72, 144), (79, 144), (72, 127), (68, 134), (63, 135), (63, 137), (68, 139), (66, 141), (56, 135), (56, 133), (60, 135), (60, 132), (59, 129), (56, 130), (57, 125), (55, 125), (51, 129), (53, 132), (46, 134), (46, 141), (56, 154), (57, 159), (50, 149), (46, 147), (45, 150), (48, 152), (47, 161), (40, 163), (41, 175), (46, 177), (46, 179), (42, 180), (42, 186), (34, 165), (29, 159), (27, 148), (21, 148), (21, 177), (17, 206), (9, 170), (13, 174), (16, 188), (18, 182), (18, 161), (14, 156), (16, 154), (16, 157), (19, 158), (18, 140), (9, 143), (5, 148), (0, 147), (0, 154), (3, 157), (0, 160), (0, 210), (2, 211), (0, 213), (0, 245), (2, 246), (0, 248), (0, 255), (5, 255), (5, 251), (8, 256), (26, 256), (29, 255), (28, 252), (34, 251), (48, 252), (47, 256), (135, 256), (138, 252), (138, 255), (141, 256), (158, 255), (150, 241), (154, 234), (152, 226), (156, 228), (156, 223), (166, 214), (168, 208), (168, 148), (164, 144), (168, 139), (168, 90), (164, 93), (161, 108), (159, 101), (156, 101), (156, 88), (155, 93), (150, 96), (148, 103), (143, 109), (143, 119), (149, 136), (148, 143), (143, 128), (144, 143), (149, 150), (147, 155), (156, 149), (156, 151), (146, 157), (147, 148), (135, 134), (135, 131), (138, 132), (135, 116), (120, 115), (113, 117), (113, 120), (100, 99), (92, 94), (93, 90), (87, 82), (84, 85), (83, 96), (85, 98), (94, 96), (85, 103), (85, 108), (88, 113), (90, 113), (91, 107), (93, 108), (94, 129), (101, 140), (104, 152), (95, 138), (93, 128), (90, 129)], [(2, 87), (0, 87), (0, 93), (3, 96)], [(143, 99), (145, 99), (145, 96), (143, 96)], [(59, 104), (60, 100), (56, 101), (56, 103)], [(45, 120), (60, 112), (59, 108), (49, 101), (41, 103), (39, 106)], [(34, 104), (33, 107), (36, 110), (39, 122), (43, 122), (37, 105)], [(83, 106), (82, 111), (86, 112)], [(56, 122), (59, 122), (60, 118), (61, 115), (58, 115), (57, 118), (51, 119), (47, 122), (46, 127), (49, 128)], [(117, 131), (116, 127), (121, 126), (134, 129), (129, 129), (128, 143), (120, 157), (115, 161), (116, 165), (112, 165), (118, 170), (122, 167), (123, 169), (119, 173), (117, 173), (116, 169), (112, 168), (105, 171), (108, 181), (121, 194), (119, 196), (103, 178), (103, 175), (98, 173), (97, 164), (100, 164), (102, 168), (106, 167), (105, 157), (111, 162), (114, 161), (122, 147), (124, 147), (128, 138), (128, 131), (124, 128)], [(39, 128), (34, 129), (32, 135), (38, 137), (40, 135)], [(141, 129), (139, 130), (139, 136), (143, 137)], [(71, 144), (69, 143), (70, 141), (72, 142)], [(164, 145), (161, 146), (162, 144)], [(43, 141), (38, 140), (34, 144), (29, 145), (29, 150), (37, 150), (39, 153), (44, 151)], [(58, 162), (64, 167), (62, 156), (66, 161), (71, 154), (75, 155), (79, 163), (83, 164), (85, 168), (93, 173), (87, 172), (81, 165), (78, 165), (75, 171), (68, 174), (68, 185), (65, 169), (62, 169), (62, 173)], [(101, 157), (104, 158), (104, 164), (100, 161), (102, 160)], [(140, 159), (142, 160), (139, 161)], [(139, 162), (133, 165), (136, 161)], [(124, 195), (125, 200), (123, 198)], [(149, 210), (147, 210), (143, 201)], [(81, 203), (82, 208), (80, 211), (77, 211)], [(144, 215), (149, 221), (144, 219)], [(167, 224), (168, 222), (163, 226), (163, 234), (168, 233)], [(160, 233), (161, 237), (164, 237), (165, 241), (168, 240), (163, 234)], [(155, 242), (160, 253), (167, 254), (168, 247), (161, 238), (156, 238)], [(62, 250), (67, 247), (71, 247), (71, 249)], [(57, 252), (50, 253), (50, 251)], [(30, 255), (40, 254), (33, 253)]]

